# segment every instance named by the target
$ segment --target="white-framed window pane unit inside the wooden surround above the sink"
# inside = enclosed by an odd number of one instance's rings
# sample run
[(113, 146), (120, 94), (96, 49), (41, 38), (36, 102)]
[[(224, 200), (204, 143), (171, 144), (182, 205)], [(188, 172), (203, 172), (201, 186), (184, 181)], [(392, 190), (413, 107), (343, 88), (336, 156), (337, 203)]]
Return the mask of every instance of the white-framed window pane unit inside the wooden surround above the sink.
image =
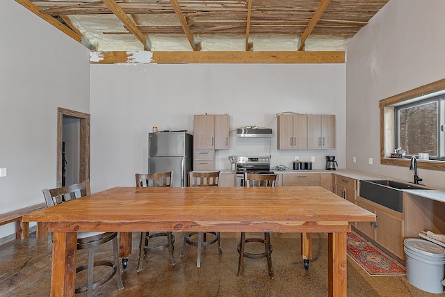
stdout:
[(445, 160), (444, 147), (441, 145), (444, 143), (443, 132), (441, 133), (444, 122), (444, 100), (445, 96), (440, 95), (396, 106), (394, 147), (403, 147), (407, 156), (421, 153), (428, 154), (430, 160)]

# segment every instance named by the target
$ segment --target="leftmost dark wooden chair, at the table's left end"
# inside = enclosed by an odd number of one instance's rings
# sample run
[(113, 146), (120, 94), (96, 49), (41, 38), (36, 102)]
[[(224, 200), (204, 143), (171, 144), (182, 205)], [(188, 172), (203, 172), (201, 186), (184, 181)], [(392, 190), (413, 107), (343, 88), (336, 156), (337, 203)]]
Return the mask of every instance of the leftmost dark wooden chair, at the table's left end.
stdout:
[[(72, 184), (71, 186), (63, 186), (61, 188), (43, 190), (44, 199), (47, 202), (47, 207), (53, 207), (54, 205), (61, 204), (66, 201), (80, 198), (84, 195), (90, 195), (90, 181), (86, 180), (79, 184)], [(94, 248), (100, 246), (108, 241), (113, 241), (113, 261), (101, 260), (95, 261)], [(118, 233), (117, 232), (78, 232), (77, 233), (77, 250), (88, 249), (88, 264), (78, 266), (76, 273), (88, 269), (87, 284), (76, 286), (75, 293), (85, 292), (87, 296), (92, 296), (94, 289), (101, 284), (111, 280), (114, 275), (117, 277), (118, 288), (123, 289), (122, 278), (120, 275), (119, 264), (119, 246), (118, 246)], [(111, 271), (103, 278), (94, 281), (93, 273), (96, 266), (109, 266)]]

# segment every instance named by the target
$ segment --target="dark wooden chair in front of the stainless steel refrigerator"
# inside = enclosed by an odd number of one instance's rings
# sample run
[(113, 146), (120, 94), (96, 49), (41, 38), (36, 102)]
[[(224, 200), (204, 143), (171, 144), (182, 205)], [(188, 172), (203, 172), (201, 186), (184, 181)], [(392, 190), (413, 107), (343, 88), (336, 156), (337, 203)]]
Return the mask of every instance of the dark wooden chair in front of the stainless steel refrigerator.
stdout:
[[(152, 173), (152, 174), (140, 174), (136, 173), (136, 186), (172, 186), (173, 172)], [(149, 246), (149, 239), (153, 239), (159, 236), (166, 236), (167, 243), (160, 246)], [(139, 260), (138, 268), (136, 271), (143, 270), (143, 258), (147, 252), (154, 252), (156, 250), (163, 250), (168, 248), (172, 265), (175, 265), (175, 256), (173, 255), (175, 243), (175, 235), (173, 232), (140, 232), (140, 244), (139, 244)]]

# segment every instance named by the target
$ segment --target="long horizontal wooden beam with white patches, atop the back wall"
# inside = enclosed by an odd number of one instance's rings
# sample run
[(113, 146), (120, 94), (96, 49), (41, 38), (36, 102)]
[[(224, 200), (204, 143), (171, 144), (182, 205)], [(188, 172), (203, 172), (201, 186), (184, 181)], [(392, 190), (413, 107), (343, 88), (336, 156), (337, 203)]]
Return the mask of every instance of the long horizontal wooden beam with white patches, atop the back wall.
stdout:
[(346, 63), (345, 56), (345, 51), (95, 51), (90, 63)]

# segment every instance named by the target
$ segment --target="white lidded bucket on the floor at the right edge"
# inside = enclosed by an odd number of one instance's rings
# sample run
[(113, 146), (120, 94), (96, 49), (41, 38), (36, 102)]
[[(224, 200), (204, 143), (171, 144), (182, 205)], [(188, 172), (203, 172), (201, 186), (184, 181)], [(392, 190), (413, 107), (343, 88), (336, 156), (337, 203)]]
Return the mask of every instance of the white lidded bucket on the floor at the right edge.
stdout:
[(414, 287), (430, 293), (442, 293), (445, 249), (423, 239), (405, 239), (407, 280)]

